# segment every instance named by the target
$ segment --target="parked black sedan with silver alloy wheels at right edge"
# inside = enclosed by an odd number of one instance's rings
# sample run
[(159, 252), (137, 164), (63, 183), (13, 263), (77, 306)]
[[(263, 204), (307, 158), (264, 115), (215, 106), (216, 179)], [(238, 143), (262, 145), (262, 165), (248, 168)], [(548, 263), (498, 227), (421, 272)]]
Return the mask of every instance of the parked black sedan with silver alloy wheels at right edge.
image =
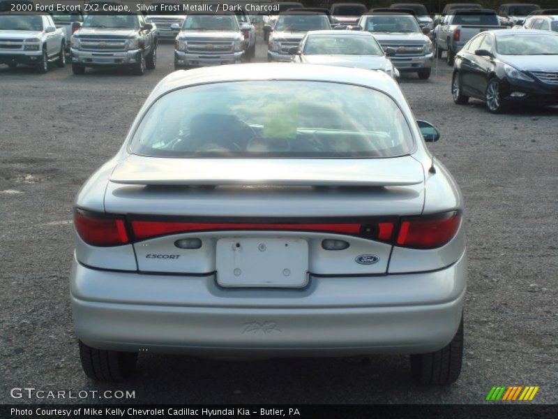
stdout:
[(478, 98), (492, 113), (513, 102), (558, 105), (558, 34), (481, 32), (456, 55), (451, 90), (458, 105)]

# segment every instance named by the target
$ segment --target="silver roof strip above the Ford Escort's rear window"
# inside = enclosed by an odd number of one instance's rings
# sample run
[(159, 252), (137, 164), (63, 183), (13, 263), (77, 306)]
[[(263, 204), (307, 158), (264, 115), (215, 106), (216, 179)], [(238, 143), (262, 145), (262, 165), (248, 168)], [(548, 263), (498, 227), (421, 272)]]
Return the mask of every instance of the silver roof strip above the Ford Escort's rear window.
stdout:
[(150, 97), (162, 96), (169, 91), (196, 84), (267, 80), (360, 84), (384, 91), (398, 101), (404, 100), (398, 84), (382, 71), (293, 63), (232, 64), (174, 71), (157, 84)]

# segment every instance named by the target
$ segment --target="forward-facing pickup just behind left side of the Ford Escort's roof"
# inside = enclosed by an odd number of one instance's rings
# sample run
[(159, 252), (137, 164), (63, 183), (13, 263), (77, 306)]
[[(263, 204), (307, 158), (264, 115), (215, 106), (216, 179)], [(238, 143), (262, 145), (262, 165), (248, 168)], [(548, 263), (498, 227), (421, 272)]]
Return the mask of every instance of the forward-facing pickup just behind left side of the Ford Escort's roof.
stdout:
[(174, 41), (174, 69), (240, 64), (243, 54), (244, 36), (233, 13), (190, 13)]

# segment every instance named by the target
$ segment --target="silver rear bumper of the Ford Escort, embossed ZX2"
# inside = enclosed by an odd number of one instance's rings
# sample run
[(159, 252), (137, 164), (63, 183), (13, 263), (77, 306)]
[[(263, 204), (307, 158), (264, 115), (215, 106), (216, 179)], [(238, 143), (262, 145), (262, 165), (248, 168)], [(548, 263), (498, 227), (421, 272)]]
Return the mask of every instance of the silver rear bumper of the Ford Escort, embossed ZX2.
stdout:
[(74, 260), (75, 331), (94, 348), (273, 357), (423, 353), (462, 315), (465, 253), (435, 272), (311, 277), (302, 289), (220, 288), (182, 277), (93, 270)]

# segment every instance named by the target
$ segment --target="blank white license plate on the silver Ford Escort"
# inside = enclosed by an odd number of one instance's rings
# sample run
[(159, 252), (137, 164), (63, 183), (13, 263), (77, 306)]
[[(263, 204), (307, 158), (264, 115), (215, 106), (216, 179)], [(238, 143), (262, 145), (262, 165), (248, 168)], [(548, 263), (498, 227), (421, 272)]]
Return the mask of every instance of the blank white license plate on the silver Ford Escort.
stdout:
[(220, 286), (293, 287), (308, 283), (308, 242), (271, 237), (227, 237), (217, 241)]

